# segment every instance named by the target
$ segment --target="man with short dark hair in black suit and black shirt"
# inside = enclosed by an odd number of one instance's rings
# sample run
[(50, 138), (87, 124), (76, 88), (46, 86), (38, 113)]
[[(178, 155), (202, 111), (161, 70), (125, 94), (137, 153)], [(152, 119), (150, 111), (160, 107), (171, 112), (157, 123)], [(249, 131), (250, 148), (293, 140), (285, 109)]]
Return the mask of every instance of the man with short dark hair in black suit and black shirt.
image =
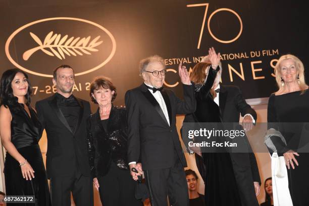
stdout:
[(47, 134), (46, 172), (52, 204), (93, 205), (93, 186), (88, 163), (86, 118), (90, 104), (72, 94), (74, 71), (69, 65), (54, 70), (57, 93), (36, 102), (35, 108)]

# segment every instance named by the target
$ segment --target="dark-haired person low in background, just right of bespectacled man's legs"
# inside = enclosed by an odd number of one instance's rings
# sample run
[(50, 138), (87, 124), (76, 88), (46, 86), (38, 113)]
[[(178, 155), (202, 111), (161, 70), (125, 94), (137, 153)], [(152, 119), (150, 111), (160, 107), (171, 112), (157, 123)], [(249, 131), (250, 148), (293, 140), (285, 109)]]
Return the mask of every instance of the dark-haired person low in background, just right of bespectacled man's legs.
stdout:
[(205, 206), (204, 195), (197, 192), (198, 177), (196, 173), (191, 169), (185, 170), (185, 173), (188, 184), (190, 206)]

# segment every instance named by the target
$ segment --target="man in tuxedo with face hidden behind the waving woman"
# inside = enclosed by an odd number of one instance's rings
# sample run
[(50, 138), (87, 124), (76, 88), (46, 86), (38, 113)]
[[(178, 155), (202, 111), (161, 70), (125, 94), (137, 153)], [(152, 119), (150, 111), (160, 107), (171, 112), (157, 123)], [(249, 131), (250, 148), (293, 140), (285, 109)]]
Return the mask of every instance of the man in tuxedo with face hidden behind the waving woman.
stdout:
[[(221, 71), (217, 73), (214, 82), (216, 97), (214, 101), (219, 105), (223, 122), (239, 122), (239, 114), (243, 116), (243, 127), (250, 130), (256, 122), (256, 112), (244, 100), (237, 86), (219, 84)], [(254, 153), (230, 153), (236, 183), (242, 206), (258, 206), (256, 195), (260, 193), (260, 174)]]

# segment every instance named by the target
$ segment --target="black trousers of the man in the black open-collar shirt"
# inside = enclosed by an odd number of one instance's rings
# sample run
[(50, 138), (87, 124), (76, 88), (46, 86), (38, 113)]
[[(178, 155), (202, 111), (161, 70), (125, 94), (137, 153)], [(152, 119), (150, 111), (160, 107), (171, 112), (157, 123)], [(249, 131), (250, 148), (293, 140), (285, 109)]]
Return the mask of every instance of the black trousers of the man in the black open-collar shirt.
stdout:
[(71, 206), (71, 191), (76, 206), (93, 206), (92, 177), (77, 172), (72, 177), (50, 178), (50, 196), (53, 205)]

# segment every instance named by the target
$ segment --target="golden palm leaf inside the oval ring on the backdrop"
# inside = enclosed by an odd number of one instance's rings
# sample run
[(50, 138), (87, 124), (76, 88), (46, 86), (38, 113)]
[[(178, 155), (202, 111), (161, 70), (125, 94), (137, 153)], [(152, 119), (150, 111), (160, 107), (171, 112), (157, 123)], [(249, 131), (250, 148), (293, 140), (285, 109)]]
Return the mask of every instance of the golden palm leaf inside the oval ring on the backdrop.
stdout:
[(54, 34), (53, 31), (46, 35), (43, 42), (32, 32), (30, 32), (30, 36), (34, 39), (38, 46), (25, 51), (23, 53), (24, 60), (28, 60), (29, 57), (38, 50), (43, 51), (49, 56), (57, 56), (60, 59), (65, 59), (66, 55), (91, 55), (90, 52), (98, 51), (95, 47), (103, 42), (98, 41), (100, 36), (95, 37), (91, 41), (90, 36), (83, 38), (71, 37), (68, 39), (68, 35), (61, 37), (61, 34)]

